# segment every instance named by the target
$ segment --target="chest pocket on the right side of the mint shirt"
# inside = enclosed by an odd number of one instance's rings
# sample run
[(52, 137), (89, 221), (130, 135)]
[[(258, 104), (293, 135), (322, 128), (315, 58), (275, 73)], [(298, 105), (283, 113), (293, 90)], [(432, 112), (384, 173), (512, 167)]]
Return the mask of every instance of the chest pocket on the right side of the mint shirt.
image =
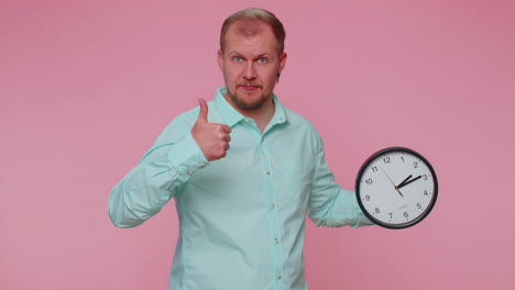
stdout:
[(309, 163), (302, 158), (281, 158), (275, 160), (274, 167), (277, 196), (293, 201), (306, 201), (313, 177)]

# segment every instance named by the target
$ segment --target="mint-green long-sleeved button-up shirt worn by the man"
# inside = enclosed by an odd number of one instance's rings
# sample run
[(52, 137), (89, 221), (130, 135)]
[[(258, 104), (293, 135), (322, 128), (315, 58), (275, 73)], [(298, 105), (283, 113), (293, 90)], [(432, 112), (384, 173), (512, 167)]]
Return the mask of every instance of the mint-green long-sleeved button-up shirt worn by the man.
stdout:
[(305, 290), (305, 216), (317, 225), (370, 225), (355, 194), (335, 183), (319, 134), (273, 96), (261, 133), (220, 88), (208, 120), (232, 129), (227, 157), (208, 161), (190, 130), (199, 108), (177, 116), (112, 189), (109, 214), (132, 227), (176, 200), (174, 290)]

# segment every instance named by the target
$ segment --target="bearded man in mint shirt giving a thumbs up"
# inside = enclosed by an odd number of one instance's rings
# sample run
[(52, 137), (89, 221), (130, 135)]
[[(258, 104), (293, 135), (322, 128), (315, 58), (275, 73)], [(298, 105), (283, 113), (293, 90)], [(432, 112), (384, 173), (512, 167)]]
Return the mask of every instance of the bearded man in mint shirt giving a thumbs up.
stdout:
[(270, 12), (229, 16), (218, 64), (226, 87), (176, 118), (112, 190), (109, 213), (132, 227), (175, 198), (179, 237), (169, 289), (307, 289), (305, 215), (370, 225), (335, 183), (313, 125), (273, 93), (287, 55)]

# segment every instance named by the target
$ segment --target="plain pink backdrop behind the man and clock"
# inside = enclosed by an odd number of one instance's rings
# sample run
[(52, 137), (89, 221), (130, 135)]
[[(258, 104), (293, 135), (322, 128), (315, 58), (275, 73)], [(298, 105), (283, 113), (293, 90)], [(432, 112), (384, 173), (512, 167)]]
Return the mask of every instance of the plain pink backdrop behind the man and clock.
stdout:
[(402, 145), (434, 165), (404, 231), (308, 223), (310, 289), (515, 289), (513, 1), (2, 1), (0, 289), (167, 289), (173, 203), (116, 228), (111, 187), (177, 114), (211, 99), (221, 22), (283, 21), (276, 92), (352, 189)]

